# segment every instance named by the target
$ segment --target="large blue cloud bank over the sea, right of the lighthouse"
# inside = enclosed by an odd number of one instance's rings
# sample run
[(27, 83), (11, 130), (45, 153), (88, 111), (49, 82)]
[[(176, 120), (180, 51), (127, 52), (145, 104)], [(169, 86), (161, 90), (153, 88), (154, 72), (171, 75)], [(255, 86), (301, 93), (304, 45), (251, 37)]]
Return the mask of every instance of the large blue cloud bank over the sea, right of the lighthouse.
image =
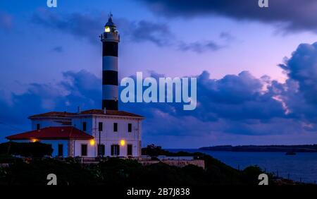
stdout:
[[(124, 106), (147, 116), (150, 127), (157, 123), (149, 129), (151, 135), (317, 136), (316, 49), (317, 44), (300, 44), (280, 65), (289, 77), (285, 83), (269, 76), (255, 78), (248, 71), (217, 80), (204, 71), (197, 76), (198, 107), (194, 111), (183, 111), (175, 103)], [(151, 76), (163, 75), (151, 72)]]

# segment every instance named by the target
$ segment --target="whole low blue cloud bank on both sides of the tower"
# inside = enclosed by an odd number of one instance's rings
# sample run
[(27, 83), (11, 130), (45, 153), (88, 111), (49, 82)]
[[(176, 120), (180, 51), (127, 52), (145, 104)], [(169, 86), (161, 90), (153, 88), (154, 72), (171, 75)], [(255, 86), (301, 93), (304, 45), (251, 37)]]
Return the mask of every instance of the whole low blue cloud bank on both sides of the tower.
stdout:
[[(143, 125), (146, 143), (156, 140), (161, 143), (170, 136), (201, 140), (218, 135), (237, 136), (235, 140), (239, 136), (265, 139), (278, 135), (288, 140), (300, 135), (304, 140), (316, 137), (316, 49), (317, 43), (301, 44), (290, 59), (285, 59), (280, 65), (288, 76), (285, 83), (268, 76), (256, 78), (248, 71), (220, 79), (213, 79), (203, 71), (195, 76), (198, 105), (194, 111), (183, 111), (178, 103), (120, 102), (120, 109), (146, 117)], [(164, 75), (150, 71), (150, 76), (158, 79)], [(76, 111), (77, 106), (101, 107), (101, 80), (87, 71), (66, 71), (60, 82), (32, 83), (22, 94), (5, 97), (0, 91), (0, 126), (2, 131), (6, 129), (4, 135), (16, 133), (10, 126), (26, 126), (29, 115), (53, 110)]]

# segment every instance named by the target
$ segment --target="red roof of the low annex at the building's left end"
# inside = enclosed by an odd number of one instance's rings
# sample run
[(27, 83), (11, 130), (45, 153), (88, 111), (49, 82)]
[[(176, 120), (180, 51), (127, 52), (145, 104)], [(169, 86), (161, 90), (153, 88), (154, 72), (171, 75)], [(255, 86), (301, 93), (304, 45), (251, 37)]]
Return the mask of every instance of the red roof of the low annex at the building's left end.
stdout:
[(6, 137), (8, 140), (92, 140), (94, 137), (73, 126), (47, 127)]

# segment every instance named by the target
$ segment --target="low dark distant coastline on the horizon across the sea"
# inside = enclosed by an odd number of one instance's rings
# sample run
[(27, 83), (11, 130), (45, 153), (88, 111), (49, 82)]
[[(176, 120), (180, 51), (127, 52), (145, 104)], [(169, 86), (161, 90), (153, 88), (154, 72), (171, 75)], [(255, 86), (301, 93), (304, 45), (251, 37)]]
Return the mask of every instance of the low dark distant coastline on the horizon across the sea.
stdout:
[(232, 152), (317, 152), (317, 145), (220, 145), (200, 147), (199, 150)]

